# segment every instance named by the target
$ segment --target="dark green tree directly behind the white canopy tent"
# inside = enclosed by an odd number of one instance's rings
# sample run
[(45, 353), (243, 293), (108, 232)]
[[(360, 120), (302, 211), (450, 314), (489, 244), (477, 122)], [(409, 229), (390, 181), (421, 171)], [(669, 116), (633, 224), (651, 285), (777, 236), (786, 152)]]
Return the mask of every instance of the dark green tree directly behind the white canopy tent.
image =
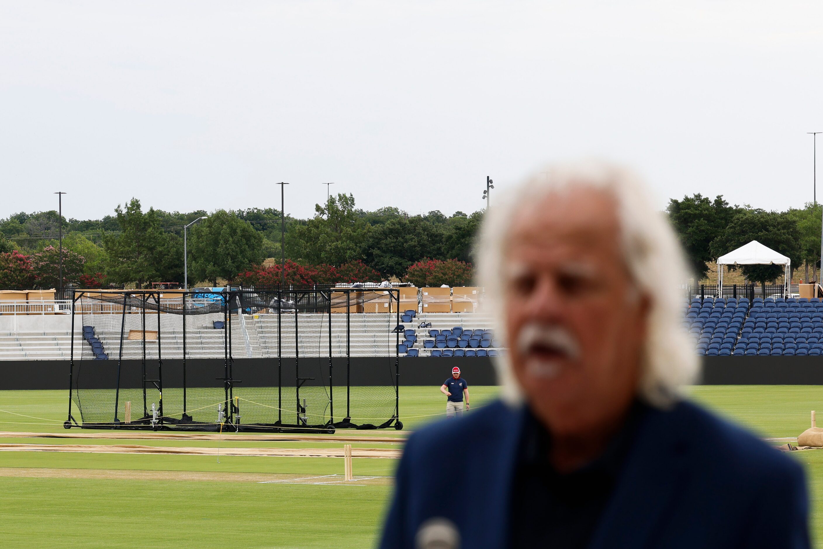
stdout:
[[(746, 209), (738, 213), (723, 234), (712, 242), (711, 254), (718, 258), (740, 248), (743, 244), (757, 240), (775, 252), (788, 256), (793, 265), (798, 265), (802, 260), (802, 252), (797, 233), (797, 220), (792, 216), (760, 209)], [(765, 293), (765, 283), (781, 277), (783, 266), (743, 265), (742, 272), (750, 281), (760, 282)]]

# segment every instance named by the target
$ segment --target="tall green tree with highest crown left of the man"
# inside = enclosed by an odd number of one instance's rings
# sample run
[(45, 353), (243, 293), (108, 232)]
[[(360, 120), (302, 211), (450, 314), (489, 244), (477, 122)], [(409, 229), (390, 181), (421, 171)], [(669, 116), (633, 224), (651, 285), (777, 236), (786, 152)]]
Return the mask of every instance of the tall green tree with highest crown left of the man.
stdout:
[(335, 266), (361, 259), (370, 226), (357, 215), (351, 194), (329, 197), (326, 206), (317, 204), (313, 219), (296, 227), (306, 263)]

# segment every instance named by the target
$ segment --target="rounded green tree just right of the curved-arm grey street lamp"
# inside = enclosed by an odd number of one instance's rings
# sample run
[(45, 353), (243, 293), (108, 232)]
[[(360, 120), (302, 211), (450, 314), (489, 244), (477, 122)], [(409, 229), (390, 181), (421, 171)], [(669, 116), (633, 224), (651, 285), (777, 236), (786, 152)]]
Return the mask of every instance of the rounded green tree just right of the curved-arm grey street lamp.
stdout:
[(217, 210), (192, 227), (188, 237), (189, 273), (217, 284), (260, 263), (263, 235), (233, 212)]

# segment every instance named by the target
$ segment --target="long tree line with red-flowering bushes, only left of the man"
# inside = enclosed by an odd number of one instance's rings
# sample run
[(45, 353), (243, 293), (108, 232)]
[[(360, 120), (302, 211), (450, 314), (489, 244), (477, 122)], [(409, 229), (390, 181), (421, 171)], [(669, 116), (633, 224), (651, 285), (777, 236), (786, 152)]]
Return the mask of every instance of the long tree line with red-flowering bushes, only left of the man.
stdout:
[[(281, 212), (275, 208), (164, 212), (136, 198), (99, 220), (62, 220), (63, 285), (134, 286), (184, 281), (188, 228), (189, 286), (218, 281), (277, 283)], [(471, 280), (472, 245), (482, 212), (410, 216), (396, 207), (366, 212), (351, 194), (315, 206), (309, 219), (285, 218), (282, 254), (292, 280), (316, 283), (421, 280), (417, 263), (446, 262), (433, 280)], [(19, 212), (0, 220), (0, 289), (58, 286), (58, 212)], [(276, 258), (276, 267), (265, 267)], [(424, 269), (425, 270), (425, 269)], [(443, 273), (451, 273), (444, 275)], [(365, 281), (365, 280), (364, 280)], [(446, 281), (446, 283), (449, 283)], [(286, 283), (296, 283), (286, 280)]]

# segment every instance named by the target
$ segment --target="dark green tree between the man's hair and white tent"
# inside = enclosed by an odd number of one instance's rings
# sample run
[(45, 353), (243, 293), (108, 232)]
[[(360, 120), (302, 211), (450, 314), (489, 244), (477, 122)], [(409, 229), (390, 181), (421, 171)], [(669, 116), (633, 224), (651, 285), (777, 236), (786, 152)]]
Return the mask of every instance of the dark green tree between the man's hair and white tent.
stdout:
[(723, 234), (739, 210), (737, 206), (729, 206), (722, 195), (714, 200), (695, 194), (669, 201), (666, 211), (698, 280), (709, 272), (706, 263), (718, 258), (712, 254), (711, 243)]

